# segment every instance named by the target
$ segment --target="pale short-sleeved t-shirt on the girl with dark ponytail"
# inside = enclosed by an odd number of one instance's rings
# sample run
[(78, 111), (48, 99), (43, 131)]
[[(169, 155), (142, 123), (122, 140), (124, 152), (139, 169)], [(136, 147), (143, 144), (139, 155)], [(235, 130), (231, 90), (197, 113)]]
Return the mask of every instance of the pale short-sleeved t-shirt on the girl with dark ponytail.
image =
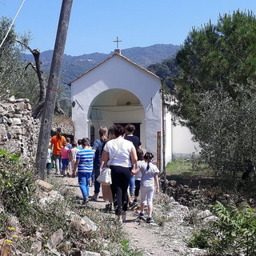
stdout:
[(154, 174), (158, 174), (158, 166), (155, 166), (153, 162), (150, 162), (149, 170), (146, 170), (147, 162), (137, 162), (136, 167), (140, 167), (142, 173), (141, 186), (154, 186)]

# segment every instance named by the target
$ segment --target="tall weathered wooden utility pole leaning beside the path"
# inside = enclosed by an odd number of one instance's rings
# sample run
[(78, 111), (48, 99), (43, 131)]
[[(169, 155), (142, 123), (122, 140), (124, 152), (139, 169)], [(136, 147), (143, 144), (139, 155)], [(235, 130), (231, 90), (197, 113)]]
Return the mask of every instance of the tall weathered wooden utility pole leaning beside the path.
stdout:
[(47, 150), (50, 142), (50, 130), (54, 116), (55, 102), (58, 95), (58, 82), (62, 68), (62, 57), (66, 44), (66, 34), (70, 22), (73, 0), (62, 0), (62, 9), (58, 21), (58, 31), (55, 40), (54, 54), (50, 66), (50, 76), (46, 90), (46, 101), (42, 110), (42, 122), (38, 138), (36, 167), (38, 176), (45, 179)]

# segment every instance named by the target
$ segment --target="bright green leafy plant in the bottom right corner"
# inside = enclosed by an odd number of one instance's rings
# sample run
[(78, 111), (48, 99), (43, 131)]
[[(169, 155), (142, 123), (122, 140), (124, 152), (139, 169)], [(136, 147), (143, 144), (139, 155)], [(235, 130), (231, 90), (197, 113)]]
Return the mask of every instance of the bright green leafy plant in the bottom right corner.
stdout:
[(202, 246), (214, 255), (255, 255), (255, 210), (250, 206), (228, 208), (218, 202), (213, 206), (213, 212), (218, 220), (194, 233), (190, 246)]

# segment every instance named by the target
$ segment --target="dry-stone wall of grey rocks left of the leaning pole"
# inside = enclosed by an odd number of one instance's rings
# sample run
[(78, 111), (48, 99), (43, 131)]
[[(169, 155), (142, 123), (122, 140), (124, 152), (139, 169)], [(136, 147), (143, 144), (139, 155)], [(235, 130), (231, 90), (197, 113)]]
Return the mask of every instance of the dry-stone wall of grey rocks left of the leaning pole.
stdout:
[(31, 117), (29, 99), (10, 97), (0, 102), (0, 147), (34, 158), (40, 121)]

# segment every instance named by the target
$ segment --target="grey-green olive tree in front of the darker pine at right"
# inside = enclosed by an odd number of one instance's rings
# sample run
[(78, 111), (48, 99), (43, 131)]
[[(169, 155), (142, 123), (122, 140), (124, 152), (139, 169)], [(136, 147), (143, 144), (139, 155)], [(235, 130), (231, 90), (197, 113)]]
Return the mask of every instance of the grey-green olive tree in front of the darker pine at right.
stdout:
[(198, 125), (190, 130), (202, 147), (202, 158), (218, 174), (245, 170), (248, 160), (256, 163), (254, 100), (238, 102), (221, 89), (203, 94), (198, 110)]

